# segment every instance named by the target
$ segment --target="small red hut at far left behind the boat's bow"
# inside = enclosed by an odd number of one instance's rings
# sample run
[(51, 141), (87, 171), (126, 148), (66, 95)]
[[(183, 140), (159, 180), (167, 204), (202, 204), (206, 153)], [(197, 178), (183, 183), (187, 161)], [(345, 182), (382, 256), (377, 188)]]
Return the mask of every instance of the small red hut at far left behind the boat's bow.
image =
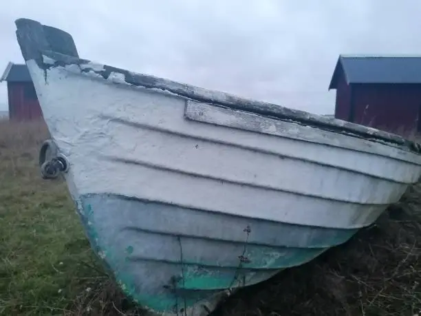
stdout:
[(42, 117), (41, 107), (28, 67), (8, 63), (0, 82), (8, 83), (8, 103), (10, 120), (36, 120)]

